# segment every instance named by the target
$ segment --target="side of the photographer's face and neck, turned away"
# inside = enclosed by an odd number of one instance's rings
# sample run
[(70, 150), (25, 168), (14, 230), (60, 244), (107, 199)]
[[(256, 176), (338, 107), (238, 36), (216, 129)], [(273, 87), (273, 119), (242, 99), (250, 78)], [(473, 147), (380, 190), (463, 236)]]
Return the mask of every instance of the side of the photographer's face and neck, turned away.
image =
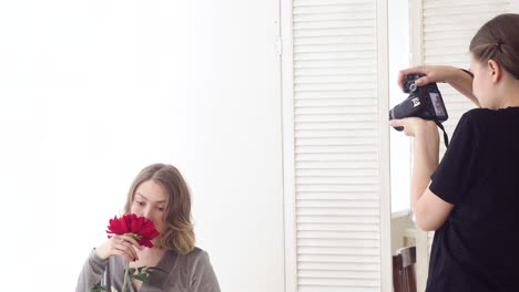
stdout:
[(474, 74), (472, 93), (478, 98), (479, 105), (484, 108), (495, 108), (497, 101), (493, 96), (493, 70), (487, 62), (481, 63), (470, 55), (470, 72)]

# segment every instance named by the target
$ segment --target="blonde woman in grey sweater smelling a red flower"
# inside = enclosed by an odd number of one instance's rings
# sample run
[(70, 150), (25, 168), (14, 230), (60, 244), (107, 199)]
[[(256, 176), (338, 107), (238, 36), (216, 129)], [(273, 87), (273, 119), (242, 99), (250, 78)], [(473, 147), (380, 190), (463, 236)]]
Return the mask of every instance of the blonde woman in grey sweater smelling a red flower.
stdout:
[(207, 252), (194, 246), (191, 195), (180, 171), (154, 164), (135, 177), (128, 194), (125, 213), (154, 222), (160, 236), (153, 248), (142, 247), (128, 236), (114, 236), (95, 248), (79, 277), (77, 292), (90, 292), (101, 283), (121, 291), (125, 263), (130, 268), (157, 267), (146, 283), (133, 281), (131, 291), (220, 292)]

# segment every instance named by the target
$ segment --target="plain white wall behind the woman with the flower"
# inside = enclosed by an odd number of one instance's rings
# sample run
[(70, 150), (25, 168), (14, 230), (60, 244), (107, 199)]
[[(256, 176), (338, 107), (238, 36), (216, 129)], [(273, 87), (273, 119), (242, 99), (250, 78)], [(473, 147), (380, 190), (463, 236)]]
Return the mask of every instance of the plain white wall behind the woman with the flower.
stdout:
[(2, 1), (1, 290), (73, 291), (163, 161), (222, 291), (283, 291), (277, 21), (277, 1)]

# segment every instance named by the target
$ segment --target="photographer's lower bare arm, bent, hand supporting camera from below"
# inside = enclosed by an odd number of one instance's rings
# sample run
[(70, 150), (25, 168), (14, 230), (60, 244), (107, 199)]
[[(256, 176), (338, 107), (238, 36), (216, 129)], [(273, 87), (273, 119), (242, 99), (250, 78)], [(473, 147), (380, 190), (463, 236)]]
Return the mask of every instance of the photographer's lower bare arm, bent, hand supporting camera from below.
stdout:
[(407, 136), (414, 137), (414, 167), (411, 176), (411, 208), (416, 223), (423, 230), (441, 227), (454, 205), (429, 189), (430, 176), (438, 167), (439, 136), (434, 122), (417, 117), (393, 119), (391, 126), (403, 126)]

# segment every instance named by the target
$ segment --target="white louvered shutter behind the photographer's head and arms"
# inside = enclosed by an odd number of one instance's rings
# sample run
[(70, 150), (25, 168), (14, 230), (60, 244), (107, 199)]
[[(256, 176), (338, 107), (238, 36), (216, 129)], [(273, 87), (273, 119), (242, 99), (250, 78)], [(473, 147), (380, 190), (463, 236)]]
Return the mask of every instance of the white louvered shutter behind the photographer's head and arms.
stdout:
[[(454, 65), (468, 69), (470, 63), (469, 44), (477, 30), (488, 20), (500, 13), (511, 12), (511, 0), (410, 0), (410, 46), (411, 64)], [(449, 114), (444, 123), (449, 138), (461, 115), (476, 107), (468, 98), (452, 90), (448, 84), (438, 83)], [(445, 153), (441, 144), (440, 157)], [(419, 237), (428, 243), (421, 250), (430, 251), (434, 232), (419, 232)], [(420, 250), (420, 247), (418, 247)], [(425, 259), (426, 264), (418, 268), (419, 289), (424, 289), (428, 253), (418, 254), (418, 260)], [(420, 291), (420, 290), (419, 290)]]

